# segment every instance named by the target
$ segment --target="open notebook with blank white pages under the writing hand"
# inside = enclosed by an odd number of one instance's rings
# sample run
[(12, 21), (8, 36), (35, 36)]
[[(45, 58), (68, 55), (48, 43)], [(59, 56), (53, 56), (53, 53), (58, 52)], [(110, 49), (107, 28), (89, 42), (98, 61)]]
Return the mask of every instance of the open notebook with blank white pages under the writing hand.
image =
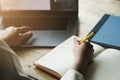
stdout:
[[(34, 65), (58, 79), (61, 78), (74, 63), (74, 37), (64, 41)], [(120, 80), (120, 51), (93, 45), (95, 52), (88, 68), (87, 80)]]

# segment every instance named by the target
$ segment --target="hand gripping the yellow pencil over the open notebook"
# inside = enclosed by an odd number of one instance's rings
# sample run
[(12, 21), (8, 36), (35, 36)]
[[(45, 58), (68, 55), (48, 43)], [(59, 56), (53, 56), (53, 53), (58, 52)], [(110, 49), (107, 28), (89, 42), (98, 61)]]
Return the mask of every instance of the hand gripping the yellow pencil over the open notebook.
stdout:
[(75, 63), (73, 69), (85, 74), (88, 64), (92, 60), (93, 52), (93, 46), (88, 41), (79, 45), (79, 40), (74, 38)]

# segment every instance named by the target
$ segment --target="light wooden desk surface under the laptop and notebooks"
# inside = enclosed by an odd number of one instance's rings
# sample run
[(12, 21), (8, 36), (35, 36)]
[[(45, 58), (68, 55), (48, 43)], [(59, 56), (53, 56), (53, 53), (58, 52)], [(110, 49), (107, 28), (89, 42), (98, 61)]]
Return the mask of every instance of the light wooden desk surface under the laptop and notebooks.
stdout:
[[(103, 14), (120, 15), (119, 0), (79, 0), (79, 36), (84, 37), (94, 27)], [(48, 53), (52, 48), (16, 48), (24, 71), (39, 80), (56, 80), (36, 69), (33, 62)]]

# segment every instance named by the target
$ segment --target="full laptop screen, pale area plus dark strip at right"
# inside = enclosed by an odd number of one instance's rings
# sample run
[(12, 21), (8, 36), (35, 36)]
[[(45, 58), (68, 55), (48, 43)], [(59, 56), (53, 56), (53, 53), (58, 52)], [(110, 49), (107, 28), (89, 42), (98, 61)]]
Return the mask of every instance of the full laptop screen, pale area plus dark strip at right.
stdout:
[(75, 10), (74, 0), (0, 0), (1, 10)]

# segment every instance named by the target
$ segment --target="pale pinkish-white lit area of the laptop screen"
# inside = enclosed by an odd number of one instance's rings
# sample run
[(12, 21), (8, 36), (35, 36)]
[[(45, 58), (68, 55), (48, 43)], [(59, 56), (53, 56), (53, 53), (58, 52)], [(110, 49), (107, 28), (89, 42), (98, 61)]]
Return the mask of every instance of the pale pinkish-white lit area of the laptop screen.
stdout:
[(50, 0), (1, 0), (1, 10), (50, 10), (50, 7)]

